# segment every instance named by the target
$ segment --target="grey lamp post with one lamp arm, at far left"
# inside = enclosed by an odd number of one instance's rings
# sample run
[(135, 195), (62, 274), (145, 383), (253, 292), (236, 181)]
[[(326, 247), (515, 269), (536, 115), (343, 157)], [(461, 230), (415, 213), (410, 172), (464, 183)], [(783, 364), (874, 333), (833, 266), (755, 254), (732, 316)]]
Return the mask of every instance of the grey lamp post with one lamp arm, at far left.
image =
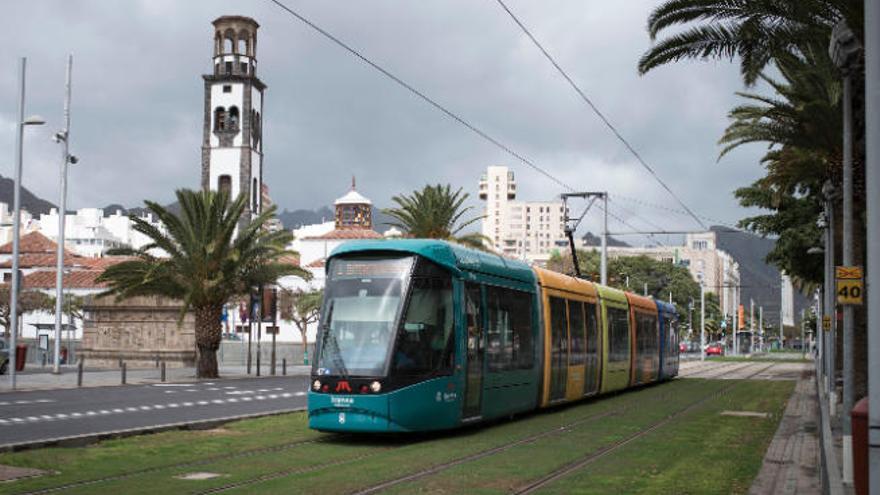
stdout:
[(19, 230), (21, 230), (21, 170), (24, 148), (24, 127), (28, 125), (43, 125), (45, 120), (38, 116), (24, 118), (25, 74), (27, 71), (27, 58), (21, 57), (18, 78), (18, 126), (15, 138), (15, 192), (13, 194), (12, 216), (12, 288), (9, 291), (9, 384), (15, 389), (15, 365), (17, 364), (15, 339), (18, 333), (18, 245)]

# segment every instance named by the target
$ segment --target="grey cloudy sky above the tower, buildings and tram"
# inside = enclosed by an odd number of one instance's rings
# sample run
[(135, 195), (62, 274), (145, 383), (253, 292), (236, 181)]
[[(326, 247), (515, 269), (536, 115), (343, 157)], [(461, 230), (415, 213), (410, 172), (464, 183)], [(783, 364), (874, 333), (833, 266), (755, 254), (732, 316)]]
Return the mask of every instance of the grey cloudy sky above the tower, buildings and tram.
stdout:
[[(285, 1), (575, 189), (608, 190), (612, 211), (631, 226), (696, 227), (645, 206), (678, 208), (494, 0)], [(733, 93), (743, 89), (735, 65), (680, 63), (640, 77), (636, 62), (650, 46), (645, 21), (659, 0), (508, 2), (692, 209), (728, 223), (748, 213), (732, 191), (761, 175), (763, 149), (716, 163)], [(330, 204), (352, 175), (379, 206), (426, 183), (475, 196), (491, 164), (516, 172), (519, 199), (562, 192), (268, 0), (39, 0), (3, 8), (10, 22), (0, 50), (0, 174), (13, 173), (15, 67), (27, 56), (27, 112), (50, 125), (29, 129), (24, 182), (57, 201), (59, 149), (49, 137), (60, 128), (64, 64), (73, 53), (71, 140), (81, 162), (70, 175), (72, 208), (170, 201), (175, 188), (198, 186), (201, 75), (211, 68), (211, 21), (227, 14), (261, 25), (265, 179), (281, 208)], [(611, 230), (629, 227), (613, 222)]]

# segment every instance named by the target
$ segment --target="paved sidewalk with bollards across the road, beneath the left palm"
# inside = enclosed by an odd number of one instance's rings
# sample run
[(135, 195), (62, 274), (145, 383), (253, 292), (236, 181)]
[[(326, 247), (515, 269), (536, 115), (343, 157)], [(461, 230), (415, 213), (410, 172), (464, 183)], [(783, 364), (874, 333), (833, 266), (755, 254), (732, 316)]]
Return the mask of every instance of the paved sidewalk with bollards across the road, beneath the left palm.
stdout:
[[(262, 365), (261, 377), (269, 377), (270, 369), (267, 364)], [(281, 376), (282, 369), (279, 363), (276, 370), (276, 376)], [(311, 366), (305, 365), (288, 365), (287, 376), (308, 376), (311, 372)], [(138, 385), (159, 383), (161, 381), (161, 371), (159, 368), (135, 368), (126, 370), (126, 384)], [(77, 369), (76, 366), (62, 366), (61, 374), (54, 375), (50, 367), (36, 368), (33, 370), (25, 369), (23, 372), (16, 374), (17, 391), (24, 390), (53, 390), (63, 388), (76, 388)], [(239, 365), (221, 365), (220, 379), (234, 378), (256, 378), (256, 366), (251, 369), (251, 374), (247, 374), (247, 369)], [(165, 381), (167, 382), (194, 382), (196, 378), (195, 368), (166, 368)], [(105, 369), (105, 368), (86, 368), (83, 370), (83, 387), (106, 387), (122, 384), (121, 369)], [(9, 375), (0, 376), (0, 392), (11, 391), (9, 385)]]

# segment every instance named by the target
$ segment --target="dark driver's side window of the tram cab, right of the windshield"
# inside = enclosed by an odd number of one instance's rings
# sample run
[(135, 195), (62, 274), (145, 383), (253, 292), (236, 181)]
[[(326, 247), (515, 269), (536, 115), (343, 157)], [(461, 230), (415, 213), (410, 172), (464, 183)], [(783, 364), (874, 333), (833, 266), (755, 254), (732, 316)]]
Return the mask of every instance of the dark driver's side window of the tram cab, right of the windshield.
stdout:
[(402, 375), (448, 374), (454, 360), (452, 282), (414, 277), (397, 336), (394, 370)]

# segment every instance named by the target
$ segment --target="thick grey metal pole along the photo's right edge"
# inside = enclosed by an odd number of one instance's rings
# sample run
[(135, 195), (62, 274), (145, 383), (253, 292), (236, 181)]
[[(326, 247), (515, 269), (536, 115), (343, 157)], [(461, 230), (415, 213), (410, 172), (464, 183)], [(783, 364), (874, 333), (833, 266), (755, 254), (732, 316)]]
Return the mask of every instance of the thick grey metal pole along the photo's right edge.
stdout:
[(880, 2), (865, 0), (869, 483), (880, 494)]

